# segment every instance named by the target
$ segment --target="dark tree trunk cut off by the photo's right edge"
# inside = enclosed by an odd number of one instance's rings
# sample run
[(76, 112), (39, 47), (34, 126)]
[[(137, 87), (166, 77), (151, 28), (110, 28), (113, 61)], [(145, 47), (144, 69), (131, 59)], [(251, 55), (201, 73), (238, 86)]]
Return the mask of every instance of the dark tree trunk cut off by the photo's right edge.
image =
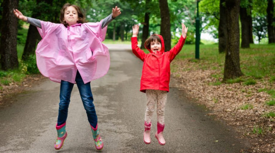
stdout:
[(275, 42), (275, 32), (274, 27), (272, 25), (273, 23), (273, 11), (274, 11), (274, 4), (273, 0), (268, 0), (267, 3), (267, 32), (268, 32), (268, 43), (274, 43)]

